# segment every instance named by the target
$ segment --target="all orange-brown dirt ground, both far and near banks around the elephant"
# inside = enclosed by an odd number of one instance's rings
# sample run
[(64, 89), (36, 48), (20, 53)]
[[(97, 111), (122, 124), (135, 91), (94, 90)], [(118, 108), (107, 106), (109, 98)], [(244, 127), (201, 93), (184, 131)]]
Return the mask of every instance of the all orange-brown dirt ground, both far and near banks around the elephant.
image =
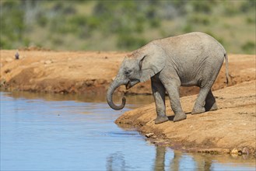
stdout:
[[(19, 51), (1, 50), (1, 89), (56, 92), (105, 93), (127, 52), (101, 51)], [(230, 83), (226, 87), (225, 65), (212, 87), (219, 110), (191, 115), (198, 88), (181, 88), (181, 103), (186, 120), (174, 123), (174, 113), (167, 103), (170, 121), (154, 124), (155, 104), (124, 113), (116, 120), (120, 127), (135, 127), (158, 145), (168, 145), (188, 152), (255, 155), (256, 95), (255, 55), (229, 54)], [(234, 86), (235, 85), (235, 86)], [(224, 89), (223, 89), (224, 88)], [(125, 90), (125, 94), (151, 94), (150, 82)], [(153, 133), (153, 134), (148, 134)]]

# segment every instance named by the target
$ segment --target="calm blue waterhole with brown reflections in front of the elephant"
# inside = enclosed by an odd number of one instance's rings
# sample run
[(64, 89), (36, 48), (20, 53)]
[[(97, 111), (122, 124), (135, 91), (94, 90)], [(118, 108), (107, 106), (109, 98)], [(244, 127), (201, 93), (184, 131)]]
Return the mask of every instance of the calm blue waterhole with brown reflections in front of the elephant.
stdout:
[(122, 111), (103, 96), (1, 92), (1, 170), (255, 170), (255, 159), (157, 147), (114, 120), (153, 102), (128, 98)]

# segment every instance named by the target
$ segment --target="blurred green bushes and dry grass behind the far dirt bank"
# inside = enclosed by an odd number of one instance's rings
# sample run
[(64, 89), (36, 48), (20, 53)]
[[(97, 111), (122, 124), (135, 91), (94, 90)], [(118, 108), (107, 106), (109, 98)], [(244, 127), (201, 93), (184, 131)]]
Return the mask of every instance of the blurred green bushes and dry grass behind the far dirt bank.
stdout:
[(1, 49), (130, 51), (200, 31), (230, 53), (255, 54), (255, 1), (2, 0)]

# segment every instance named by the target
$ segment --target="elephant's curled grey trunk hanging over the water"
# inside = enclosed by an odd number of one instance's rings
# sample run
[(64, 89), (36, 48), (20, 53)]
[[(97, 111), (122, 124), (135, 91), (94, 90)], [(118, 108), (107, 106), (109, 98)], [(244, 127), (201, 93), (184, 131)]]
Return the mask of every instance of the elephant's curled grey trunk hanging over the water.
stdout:
[(114, 90), (117, 89), (119, 86), (124, 85), (124, 84), (125, 84), (125, 82), (117, 82), (117, 79), (115, 79), (114, 82), (112, 82), (110, 88), (107, 90), (107, 103), (114, 110), (121, 110), (125, 106), (125, 101), (126, 101), (125, 97), (123, 97), (122, 103), (121, 103), (120, 106), (115, 105), (113, 103), (113, 99), (112, 99)]

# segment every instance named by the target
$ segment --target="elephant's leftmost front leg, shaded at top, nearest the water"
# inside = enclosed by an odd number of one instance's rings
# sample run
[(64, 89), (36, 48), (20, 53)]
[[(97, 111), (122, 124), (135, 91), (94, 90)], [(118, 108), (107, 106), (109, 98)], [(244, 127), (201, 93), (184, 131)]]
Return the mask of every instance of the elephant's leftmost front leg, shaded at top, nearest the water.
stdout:
[(151, 79), (151, 87), (153, 96), (156, 103), (156, 120), (155, 124), (161, 124), (163, 122), (168, 121), (168, 117), (166, 115), (166, 106), (165, 106), (165, 92), (163, 84), (158, 79)]

